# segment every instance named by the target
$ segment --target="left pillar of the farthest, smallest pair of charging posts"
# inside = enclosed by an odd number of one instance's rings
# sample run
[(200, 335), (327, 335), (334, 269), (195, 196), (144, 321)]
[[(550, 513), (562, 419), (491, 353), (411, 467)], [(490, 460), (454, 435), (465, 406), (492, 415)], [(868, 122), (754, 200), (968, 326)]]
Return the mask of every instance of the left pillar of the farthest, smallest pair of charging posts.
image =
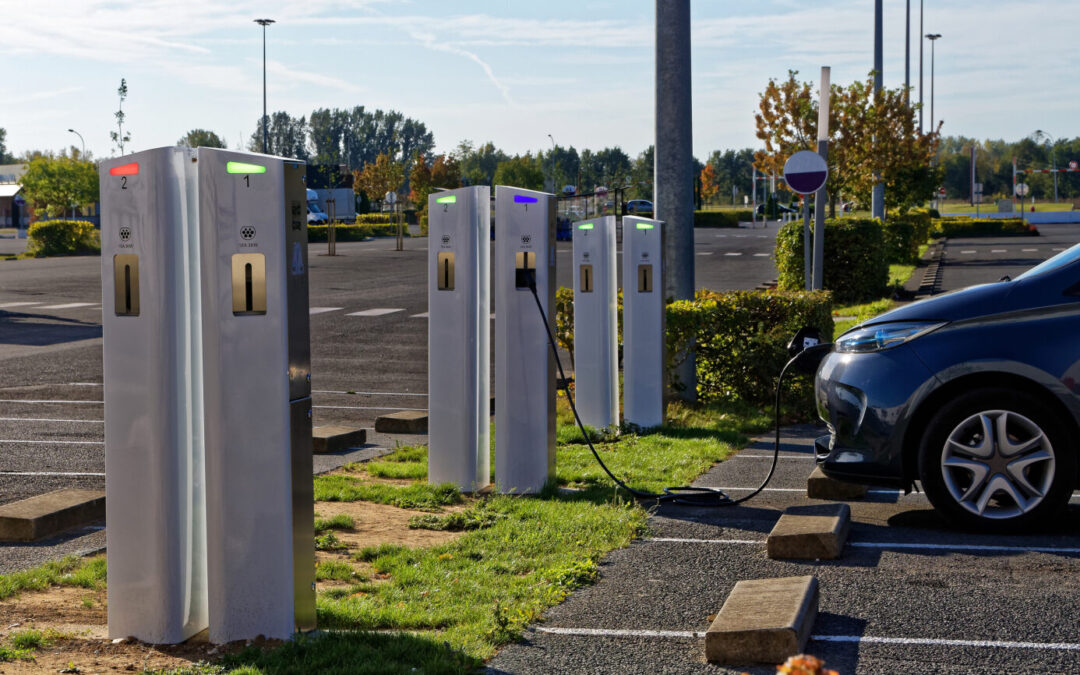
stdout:
[(573, 388), (581, 420), (619, 426), (616, 217), (573, 224)]

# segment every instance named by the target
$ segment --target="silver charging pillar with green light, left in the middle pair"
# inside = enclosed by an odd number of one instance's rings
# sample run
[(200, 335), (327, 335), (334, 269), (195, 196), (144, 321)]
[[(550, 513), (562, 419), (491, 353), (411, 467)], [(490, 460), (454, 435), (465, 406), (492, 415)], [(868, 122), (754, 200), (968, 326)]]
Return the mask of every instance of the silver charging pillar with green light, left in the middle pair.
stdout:
[(435, 192), (428, 214), (428, 482), (474, 492), (491, 475), (491, 189)]

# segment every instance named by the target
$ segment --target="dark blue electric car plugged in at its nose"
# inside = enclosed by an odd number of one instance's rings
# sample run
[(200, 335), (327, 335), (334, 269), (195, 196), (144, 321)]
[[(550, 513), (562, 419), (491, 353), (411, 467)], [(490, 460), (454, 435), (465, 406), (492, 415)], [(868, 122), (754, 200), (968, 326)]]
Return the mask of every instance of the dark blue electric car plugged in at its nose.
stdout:
[(887, 312), (818, 370), (829, 476), (909, 489), (964, 527), (1044, 525), (1078, 486), (1080, 244), (1011, 281)]

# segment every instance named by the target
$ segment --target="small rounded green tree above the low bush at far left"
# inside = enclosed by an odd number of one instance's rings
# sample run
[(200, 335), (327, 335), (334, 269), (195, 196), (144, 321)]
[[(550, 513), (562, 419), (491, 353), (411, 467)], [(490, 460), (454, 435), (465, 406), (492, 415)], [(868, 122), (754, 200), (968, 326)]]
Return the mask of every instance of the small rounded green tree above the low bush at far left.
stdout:
[(23, 197), (36, 211), (59, 216), (98, 199), (97, 166), (70, 157), (33, 158), (18, 183)]

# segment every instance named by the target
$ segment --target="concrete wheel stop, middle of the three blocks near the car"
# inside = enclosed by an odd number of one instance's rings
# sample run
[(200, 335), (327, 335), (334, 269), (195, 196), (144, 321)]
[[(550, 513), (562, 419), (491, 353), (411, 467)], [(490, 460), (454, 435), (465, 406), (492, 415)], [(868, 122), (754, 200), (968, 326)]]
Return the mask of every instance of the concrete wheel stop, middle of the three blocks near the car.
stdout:
[(851, 527), (848, 504), (788, 507), (769, 538), (770, 558), (833, 561), (840, 557)]

